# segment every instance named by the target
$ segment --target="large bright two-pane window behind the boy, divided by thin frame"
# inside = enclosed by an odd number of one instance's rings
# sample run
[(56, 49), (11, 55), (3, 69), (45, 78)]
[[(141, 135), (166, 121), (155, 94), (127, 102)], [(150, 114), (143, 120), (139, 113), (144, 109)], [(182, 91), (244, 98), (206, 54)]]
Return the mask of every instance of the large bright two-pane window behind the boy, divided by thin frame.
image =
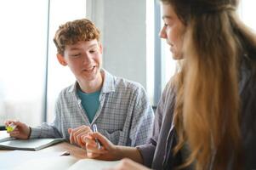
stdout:
[(85, 16), (86, 0), (0, 3), (0, 125), (7, 119), (38, 125), (45, 121), (46, 109), (48, 121), (53, 120), (57, 95), (74, 82), (55, 57), (54, 32), (60, 24)]

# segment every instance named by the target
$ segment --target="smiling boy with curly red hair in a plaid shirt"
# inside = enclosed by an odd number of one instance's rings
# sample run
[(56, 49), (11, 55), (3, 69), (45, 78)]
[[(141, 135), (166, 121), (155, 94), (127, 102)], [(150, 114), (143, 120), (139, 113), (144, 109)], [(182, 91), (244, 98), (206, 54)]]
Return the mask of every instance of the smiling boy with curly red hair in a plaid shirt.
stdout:
[(154, 114), (145, 89), (139, 83), (114, 77), (101, 68), (100, 31), (90, 20), (74, 20), (59, 27), (54, 37), (60, 65), (68, 65), (77, 81), (60, 92), (53, 124), (17, 127), (10, 136), (18, 139), (64, 138), (84, 146), (81, 138), (97, 124), (113, 144), (145, 144)]

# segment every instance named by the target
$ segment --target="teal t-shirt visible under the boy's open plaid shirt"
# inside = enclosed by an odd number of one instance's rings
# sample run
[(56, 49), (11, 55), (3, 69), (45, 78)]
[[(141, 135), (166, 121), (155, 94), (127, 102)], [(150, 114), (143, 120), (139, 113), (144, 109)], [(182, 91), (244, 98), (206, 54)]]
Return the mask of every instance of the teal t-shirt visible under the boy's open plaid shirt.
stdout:
[(100, 106), (100, 91), (86, 94), (77, 89), (77, 95), (81, 99), (82, 108), (86, 111), (89, 122), (92, 122)]

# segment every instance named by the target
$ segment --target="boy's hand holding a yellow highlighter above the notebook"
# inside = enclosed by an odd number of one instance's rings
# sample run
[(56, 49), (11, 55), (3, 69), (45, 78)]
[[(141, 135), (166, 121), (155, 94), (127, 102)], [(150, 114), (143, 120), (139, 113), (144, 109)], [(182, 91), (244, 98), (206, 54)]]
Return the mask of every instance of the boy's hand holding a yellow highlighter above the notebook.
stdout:
[(29, 134), (31, 133), (30, 127), (28, 127), (25, 123), (19, 121), (6, 121), (4, 124), (6, 127), (8, 127), (11, 123), (15, 126), (13, 131), (8, 132), (11, 137), (14, 137), (16, 139), (29, 138)]

